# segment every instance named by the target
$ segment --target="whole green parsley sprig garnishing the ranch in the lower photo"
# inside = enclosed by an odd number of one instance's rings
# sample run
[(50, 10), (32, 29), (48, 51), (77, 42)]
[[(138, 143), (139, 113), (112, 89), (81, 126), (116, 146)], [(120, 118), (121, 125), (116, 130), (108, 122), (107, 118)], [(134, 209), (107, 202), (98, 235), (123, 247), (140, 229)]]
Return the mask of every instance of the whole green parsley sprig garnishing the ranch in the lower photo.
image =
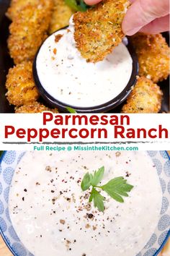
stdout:
[(92, 187), (89, 202), (94, 201), (94, 207), (97, 207), (100, 211), (104, 211), (104, 200), (105, 198), (100, 194), (102, 189), (107, 192), (107, 195), (112, 197), (117, 202), (124, 202), (122, 197), (128, 197), (128, 192), (133, 189), (133, 186), (127, 183), (127, 180), (122, 176), (115, 179), (111, 179), (107, 184), (98, 186), (99, 182), (102, 181), (104, 175), (104, 166), (99, 168), (98, 171), (94, 171), (94, 174), (87, 172), (81, 182), (81, 189), (86, 191), (89, 187)]

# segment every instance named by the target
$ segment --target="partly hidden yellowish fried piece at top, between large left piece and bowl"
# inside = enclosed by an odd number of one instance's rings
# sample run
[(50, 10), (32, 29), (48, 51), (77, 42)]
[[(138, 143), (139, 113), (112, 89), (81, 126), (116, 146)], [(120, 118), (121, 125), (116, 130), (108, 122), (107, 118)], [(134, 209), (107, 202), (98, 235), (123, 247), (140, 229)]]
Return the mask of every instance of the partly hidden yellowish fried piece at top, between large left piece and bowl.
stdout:
[(73, 10), (65, 4), (64, 0), (53, 0), (54, 7), (50, 20), (49, 33), (52, 34), (56, 30), (66, 27), (69, 23)]

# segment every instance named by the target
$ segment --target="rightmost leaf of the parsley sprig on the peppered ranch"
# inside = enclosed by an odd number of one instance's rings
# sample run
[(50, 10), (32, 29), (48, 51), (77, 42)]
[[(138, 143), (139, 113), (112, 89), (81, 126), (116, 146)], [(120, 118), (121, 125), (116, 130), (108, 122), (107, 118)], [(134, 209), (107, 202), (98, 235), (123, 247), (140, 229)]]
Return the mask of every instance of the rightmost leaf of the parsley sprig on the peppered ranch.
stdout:
[(126, 183), (127, 180), (123, 177), (117, 177), (111, 179), (107, 184), (103, 185), (101, 188), (107, 192), (107, 194), (115, 199), (117, 202), (124, 202), (122, 196), (128, 197), (128, 193), (133, 186)]

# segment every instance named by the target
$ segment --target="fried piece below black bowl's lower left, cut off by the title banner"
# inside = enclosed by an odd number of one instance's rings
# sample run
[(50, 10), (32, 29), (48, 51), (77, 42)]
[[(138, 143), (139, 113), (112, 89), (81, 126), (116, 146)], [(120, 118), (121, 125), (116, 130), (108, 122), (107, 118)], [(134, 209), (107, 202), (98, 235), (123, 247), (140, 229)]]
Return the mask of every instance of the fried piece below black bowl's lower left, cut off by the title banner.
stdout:
[(34, 102), (29, 105), (24, 105), (19, 108), (15, 108), (15, 113), (20, 113), (20, 114), (42, 113), (43, 111), (51, 111), (53, 113), (58, 113), (57, 108), (48, 108), (39, 102)]

